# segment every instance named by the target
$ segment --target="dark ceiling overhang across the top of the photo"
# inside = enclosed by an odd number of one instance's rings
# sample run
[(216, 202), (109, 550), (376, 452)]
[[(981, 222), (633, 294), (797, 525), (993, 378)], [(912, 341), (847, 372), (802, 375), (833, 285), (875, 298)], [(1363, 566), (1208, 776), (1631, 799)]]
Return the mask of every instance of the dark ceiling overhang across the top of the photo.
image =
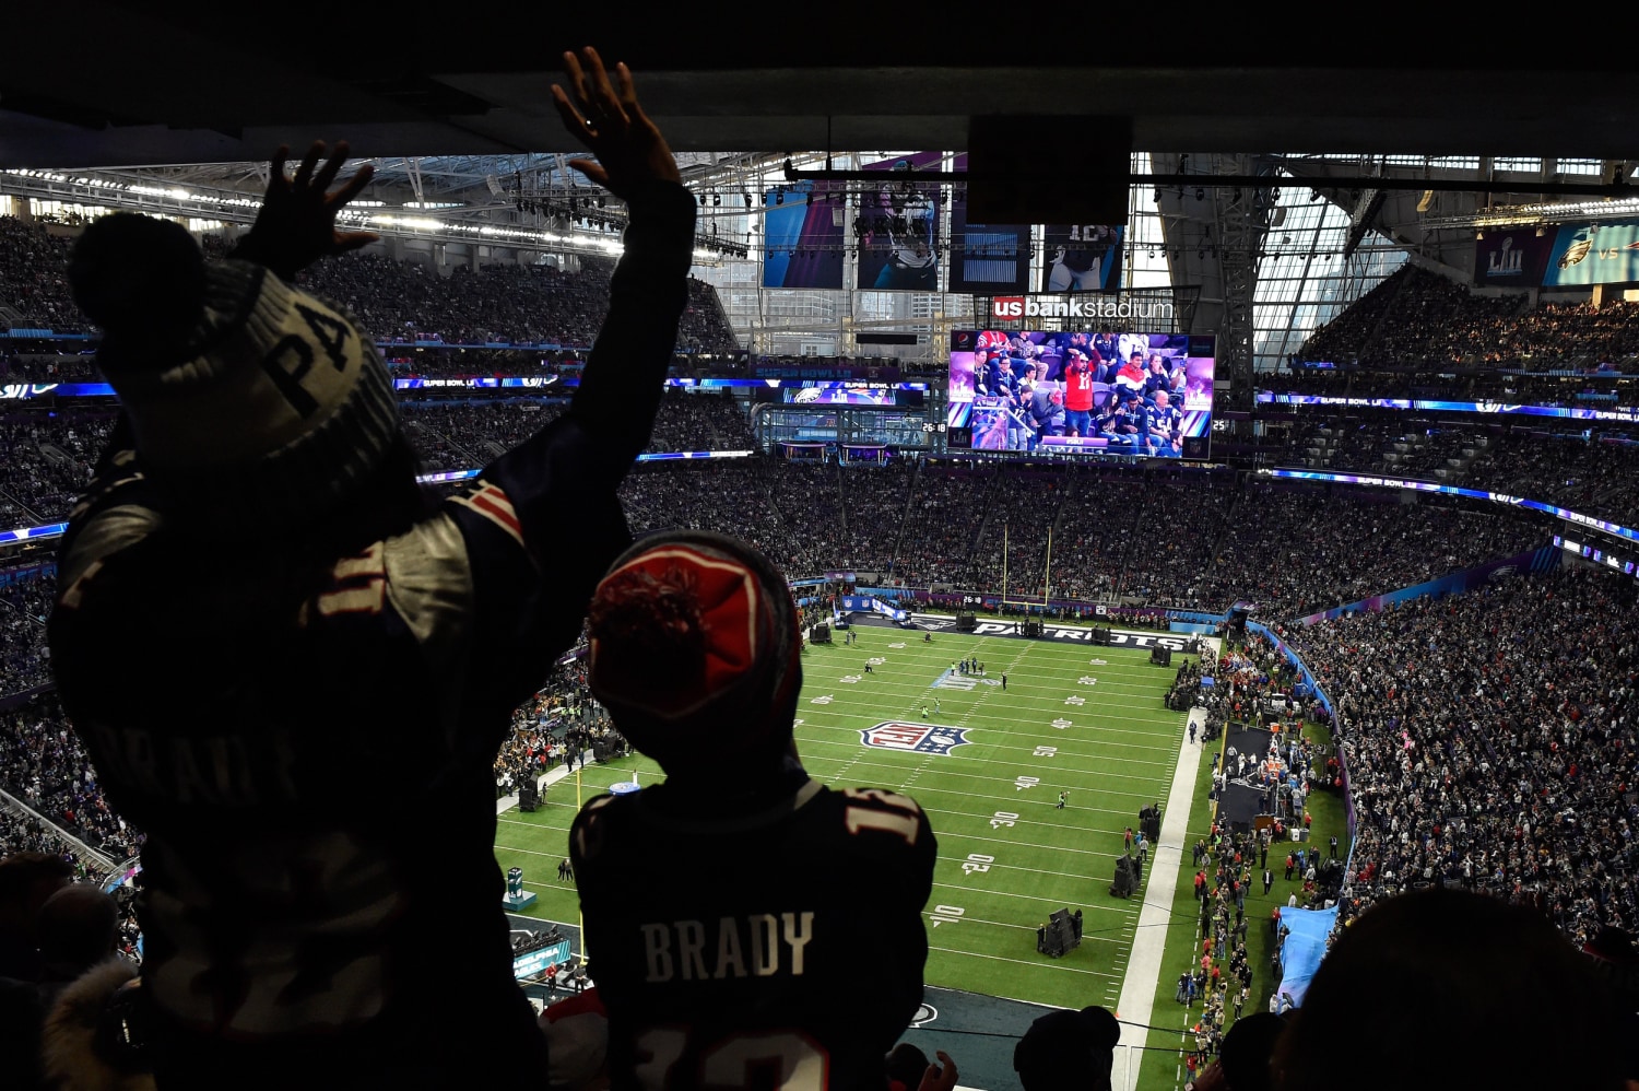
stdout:
[(1137, 149), (1192, 153), (1618, 159), (1639, 131), (1639, 80), (1600, 51), (1442, 39), (1400, 57), (1228, 10), (1213, 25), (997, 5), (941, 28), (846, 5), (608, 7), (402, 3), (354, 26), (362, 11), (302, 0), (23, 5), (7, 15), (0, 167), (249, 162), (315, 136), (377, 159), (570, 151), (547, 87), (585, 43), (631, 64), (685, 153), (959, 149), (978, 113), (1128, 115)]

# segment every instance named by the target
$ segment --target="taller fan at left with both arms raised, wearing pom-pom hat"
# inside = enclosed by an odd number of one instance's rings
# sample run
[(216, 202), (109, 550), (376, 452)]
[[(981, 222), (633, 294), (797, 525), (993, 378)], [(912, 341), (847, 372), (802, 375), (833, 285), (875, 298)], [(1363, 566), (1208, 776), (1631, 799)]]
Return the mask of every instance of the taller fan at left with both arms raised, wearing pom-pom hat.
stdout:
[[(585, 59), (565, 54), (580, 108), (554, 95), (598, 154), (574, 166), (631, 208), (610, 315), (570, 409), (436, 509), (380, 354), (292, 287), (369, 241), (334, 231), (369, 180), (326, 194), (344, 144), (321, 167), (315, 144), (293, 180), (280, 151), (233, 259), (121, 215), (75, 249), (123, 420), (64, 538), (49, 633), (98, 778), (149, 835), (162, 1091), (544, 1080), (500, 911), (493, 761), (628, 541), (615, 491), (649, 438), (693, 230), (629, 74), (616, 89)], [(425, 774), (361, 778), (388, 730)]]

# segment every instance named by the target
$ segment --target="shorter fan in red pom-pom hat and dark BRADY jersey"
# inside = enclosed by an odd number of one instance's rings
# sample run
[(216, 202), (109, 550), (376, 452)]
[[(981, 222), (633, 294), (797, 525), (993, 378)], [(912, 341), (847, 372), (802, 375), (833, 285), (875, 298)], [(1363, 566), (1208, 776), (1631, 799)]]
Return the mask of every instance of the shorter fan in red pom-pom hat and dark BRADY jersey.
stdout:
[(592, 691), (667, 778), (570, 829), (610, 1086), (883, 1088), (921, 1004), (936, 845), (915, 801), (798, 761), (783, 576), (733, 538), (657, 535), (588, 620)]

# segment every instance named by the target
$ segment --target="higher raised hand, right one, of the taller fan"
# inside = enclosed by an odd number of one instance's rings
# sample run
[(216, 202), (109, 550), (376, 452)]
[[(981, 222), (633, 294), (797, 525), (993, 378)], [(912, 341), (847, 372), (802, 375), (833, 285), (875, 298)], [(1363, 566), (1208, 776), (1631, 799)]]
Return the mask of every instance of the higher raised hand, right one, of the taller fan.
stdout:
[(615, 84), (610, 84), (597, 49), (588, 46), (580, 56), (585, 67), (574, 52), (564, 54), (570, 90), (552, 84), (552, 100), (564, 125), (597, 159), (570, 159), (569, 166), (623, 199), (644, 182), (680, 182), (677, 159), (661, 130), (638, 105), (626, 66), (615, 66)]

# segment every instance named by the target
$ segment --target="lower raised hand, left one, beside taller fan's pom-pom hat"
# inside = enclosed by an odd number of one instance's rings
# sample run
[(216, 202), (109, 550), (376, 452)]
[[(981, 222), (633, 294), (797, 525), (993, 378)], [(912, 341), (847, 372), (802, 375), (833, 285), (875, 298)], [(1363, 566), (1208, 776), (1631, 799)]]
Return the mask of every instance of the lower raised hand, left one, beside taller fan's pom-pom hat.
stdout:
[(370, 184), (375, 167), (364, 164), (331, 194), (328, 190), (347, 161), (346, 141), (336, 143), (323, 166), (320, 157), (325, 156), (325, 141), (313, 141), (293, 179), (285, 177), (288, 156), (290, 149), (285, 146), (274, 153), (267, 195), (262, 199), (262, 210), (256, 213), (256, 225), (239, 246), (239, 256), (288, 277), (320, 258), (344, 254), (379, 238), (372, 231), (336, 230), (336, 213)]

